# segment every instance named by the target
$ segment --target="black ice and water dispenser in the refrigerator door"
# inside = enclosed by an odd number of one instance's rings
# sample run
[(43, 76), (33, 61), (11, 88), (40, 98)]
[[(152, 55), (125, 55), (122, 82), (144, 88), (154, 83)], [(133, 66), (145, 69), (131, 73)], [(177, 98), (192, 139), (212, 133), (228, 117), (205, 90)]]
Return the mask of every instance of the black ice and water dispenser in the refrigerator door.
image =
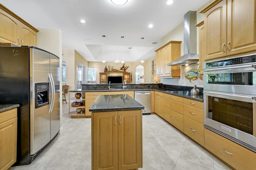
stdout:
[(49, 105), (49, 83), (36, 83), (35, 88), (36, 108)]

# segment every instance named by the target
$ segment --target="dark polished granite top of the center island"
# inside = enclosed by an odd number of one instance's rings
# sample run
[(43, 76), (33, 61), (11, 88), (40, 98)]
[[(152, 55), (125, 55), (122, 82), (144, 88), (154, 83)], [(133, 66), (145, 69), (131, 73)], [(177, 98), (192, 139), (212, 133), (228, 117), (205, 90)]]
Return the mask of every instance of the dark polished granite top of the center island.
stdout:
[(90, 107), (90, 112), (128, 111), (144, 109), (129, 95), (99, 95)]

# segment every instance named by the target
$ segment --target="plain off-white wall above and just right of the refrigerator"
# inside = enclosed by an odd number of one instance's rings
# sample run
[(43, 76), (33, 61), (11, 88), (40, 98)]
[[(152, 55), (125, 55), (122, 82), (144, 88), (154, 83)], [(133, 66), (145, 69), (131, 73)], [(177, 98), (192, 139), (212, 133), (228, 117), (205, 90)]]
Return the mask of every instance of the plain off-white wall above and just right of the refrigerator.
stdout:
[(37, 47), (60, 58), (60, 128), (62, 127), (62, 32), (60, 29), (37, 28)]

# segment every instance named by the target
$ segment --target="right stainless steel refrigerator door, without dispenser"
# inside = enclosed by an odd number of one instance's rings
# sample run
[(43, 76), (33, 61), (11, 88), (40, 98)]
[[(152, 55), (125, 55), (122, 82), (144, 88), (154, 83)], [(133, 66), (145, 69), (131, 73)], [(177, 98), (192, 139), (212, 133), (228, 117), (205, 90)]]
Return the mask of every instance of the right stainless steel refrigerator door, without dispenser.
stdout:
[(54, 100), (50, 112), (51, 140), (60, 130), (60, 60), (56, 55), (50, 54), (50, 75), (54, 83)]

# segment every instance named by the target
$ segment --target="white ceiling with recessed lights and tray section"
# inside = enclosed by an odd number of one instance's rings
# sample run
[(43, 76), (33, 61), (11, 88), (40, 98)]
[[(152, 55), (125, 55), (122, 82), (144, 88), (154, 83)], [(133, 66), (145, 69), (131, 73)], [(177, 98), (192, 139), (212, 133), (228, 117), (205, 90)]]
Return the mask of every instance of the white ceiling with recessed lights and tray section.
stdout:
[[(208, 1), (173, 0), (167, 5), (167, 0), (128, 0), (122, 6), (110, 0), (0, 3), (36, 28), (60, 29), (62, 49), (75, 49), (87, 61), (136, 62), (153, 58), (161, 38), (183, 22), (184, 14)], [(149, 28), (149, 24), (153, 27)]]

